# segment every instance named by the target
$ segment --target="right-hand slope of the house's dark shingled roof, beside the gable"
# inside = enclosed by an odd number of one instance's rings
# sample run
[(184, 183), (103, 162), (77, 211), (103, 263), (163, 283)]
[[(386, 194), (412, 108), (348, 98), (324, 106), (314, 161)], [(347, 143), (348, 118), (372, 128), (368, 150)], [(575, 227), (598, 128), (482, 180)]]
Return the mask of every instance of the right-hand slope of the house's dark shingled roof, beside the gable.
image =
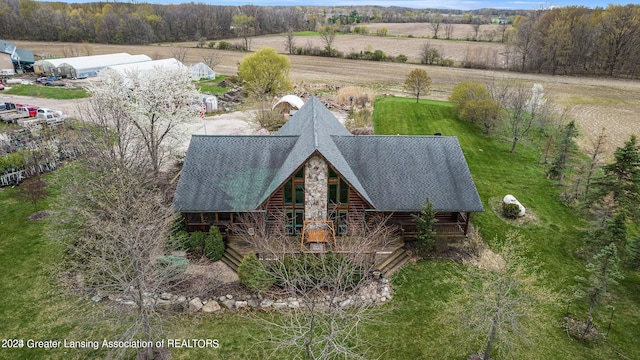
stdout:
[(334, 136), (378, 210), (483, 211), (454, 136)]

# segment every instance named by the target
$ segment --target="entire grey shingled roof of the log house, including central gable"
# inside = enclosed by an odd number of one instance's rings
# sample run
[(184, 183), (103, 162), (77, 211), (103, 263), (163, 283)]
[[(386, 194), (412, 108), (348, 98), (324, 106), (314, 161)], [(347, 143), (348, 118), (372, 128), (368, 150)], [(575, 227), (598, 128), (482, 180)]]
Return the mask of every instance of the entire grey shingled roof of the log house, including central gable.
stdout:
[(174, 207), (255, 210), (315, 152), (375, 209), (483, 210), (457, 138), (353, 136), (315, 97), (273, 136), (193, 136)]

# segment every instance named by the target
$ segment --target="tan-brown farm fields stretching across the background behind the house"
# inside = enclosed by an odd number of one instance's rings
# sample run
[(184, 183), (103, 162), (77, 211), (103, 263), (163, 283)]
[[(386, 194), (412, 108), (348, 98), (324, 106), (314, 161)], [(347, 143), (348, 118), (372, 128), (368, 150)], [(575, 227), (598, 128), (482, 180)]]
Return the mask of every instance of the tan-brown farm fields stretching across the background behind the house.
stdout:
[[(385, 24), (388, 27), (391, 24)], [(400, 24), (405, 25), (405, 24)], [(422, 24), (424, 25), (424, 24)], [(394, 30), (395, 31), (395, 30)], [(234, 40), (231, 40), (234, 41)], [(299, 45), (312, 41), (320, 43), (318, 37), (299, 37)], [(503, 45), (499, 43), (475, 43), (467, 41), (429, 40), (434, 46), (443, 46), (445, 54), (464, 54), (470, 47), (484, 47), (491, 51), (500, 52)], [(387, 54), (400, 51), (416, 56), (425, 39), (409, 38), (380, 38), (376, 36), (338, 36), (335, 46), (343, 52), (352, 49), (366, 49), (368, 45), (381, 49)], [(63, 43), (40, 43), (17, 41), (19, 47), (33, 50), (36, 54), (50, 53), (62, 56)], [(282, 36), (265, 36), (255, 38), (252, 48), (272, 46), (282, 51), (284, 38)], [(442, 45), (441, 45), (442, 44)], [(179, 44), (188, 46), (185, 63), (192, 64), (202, 61), (202, 56), (209, 49), (197, 49), (194, 43)], [(91, 45), (94, 54), (128, 52), (131, 54), (146, 54), (152, 58), (172, 57), (174, 46), (178, 45), (150, 45), (150, 46), (118, 46)], [(237, 51), (220, 51), (221, 63), (214, 70), (221, 74), (237, 74), (238, 62), (247, 53)], [(451, 54), (451, 55), (448, 55)], [(361, 85), (367, 86), (378, 93), (400, 93), (402, 82), (415, 64), (401, 64), (390, 62), (355, 61), (310, 56), (289, 56), (291, 61), (291, 79), (294, 83), (310, 85), (324, 83), (337, 86)], [(439, 66), (424, 67), (433, 80), (432, 92), (429, 98), (445, 100), (451, 89), (465, 80), (490, 81), (503, 79), (505, 81), (522, 81), (527, 84), (540, 83), (544, 86), (546, 95), (554, 103), (568, 109), (581, 129), (581, 144), (589, 143), (589, 139), (597, 136), (606, 127), (611, 142), (611, 149), (621, 146), (631, 134), (640, 135), (640, 81), (618, 80), (608, 78), (580, 78), (569, 76), (550, 76), (539, 74), (521, 74), (515, 72), (495, 72), (486, 70), (445, 68)]]

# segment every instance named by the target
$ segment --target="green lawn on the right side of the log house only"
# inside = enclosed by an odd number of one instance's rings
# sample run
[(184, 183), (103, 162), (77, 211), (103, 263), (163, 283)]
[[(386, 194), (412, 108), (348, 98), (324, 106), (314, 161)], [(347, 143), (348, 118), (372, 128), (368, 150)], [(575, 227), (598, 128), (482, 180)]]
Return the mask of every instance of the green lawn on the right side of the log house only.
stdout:
[[(480, 229), (485, 241), (495, 246), (496, 236), (500, 238), (507, 230), (517, 228), (529, 239), (529, 255), (542, 264), (547, 273), (546, 286), (550, 289), (566, 292), (574, 283), (574, 276), (584, 274), (584, 261), (575, 255), (575, 249), (581, 245), (580, 230), (588, 224), (573, 209), (559, 201), (561, 190), (545, 176), (544, 169), (538, 165), (538, 151), (531, 144), (520, 144), (516, 153), (510, 154), (507, 140), (488, 137), (479, 128), (456, 120), (451, 104), (439, 101), (420, 100), (416, 104), (415, 99), (379, 99), (375, 103), (374, 124), (378, 134), (433, 135), (440, 132), (444, 136), (458, 137), (485, 207), (484, 213), (476, 214), (473, 218), (474, 225)], [(501, 199), (506, 194), (515, 195), (538, 220), (518, 227), (498, 217), (489, 200)], [(431, 274), (440, 273), (449, 266), (456, 265), (420, 261), (403, 269), (396, 277), (397, 308), (394, 313), (398, 315), (397, 321), (412, 324), (407, 334), (422, 335), (417, 339), (405, 337), (405, 341), (413, 343), (413, 346), (403, 345), (406, 351), (397, 358), (417, 358), (420, 357), (419, 351), (438, 354), (435, 357), (428, 356), (430, 358), (462, 358), (468, 354), (469, 348), (473, 349), (469, 344), (467, 348), (463, 344), (453, 347), (447, 345), (456, 344), (456, 339), (443, 335), (446, 331), (428, 321), (437, 311), (428, 299), (446, 296), (436, 285), (438, 277)], [(532, 339), (533, 345), (523, 345), (514, 358), (640, 358), (640, 347), (634, 345), (633, 340), (640, 335), (640, 292), (637, 290), (640, 275), (637, 271), (627, 271), (625, 276), (626, 279), (613, 289), (616, 312), (607, 342), (581, 344), (570, 340), (559, 326), (554, 326), (551, 332), (536, 333)], [(572, 305), (571, 311), (584, 316), (584, 311), (578, 306)], [(550, 323), (555, 324), (560, 322), (566, 308), (541, 311), (548, 314)], [(602, 311), (598, 319), (599, 325), (605, 330), (609, 315), (610, 312)], [(397, 343), (382, 344), (380, 349), (385, 346), (397, 346)], [(444, 349), (440, 349), (441, 346)], [(394, 351), (394, 354), (399, 353)]]

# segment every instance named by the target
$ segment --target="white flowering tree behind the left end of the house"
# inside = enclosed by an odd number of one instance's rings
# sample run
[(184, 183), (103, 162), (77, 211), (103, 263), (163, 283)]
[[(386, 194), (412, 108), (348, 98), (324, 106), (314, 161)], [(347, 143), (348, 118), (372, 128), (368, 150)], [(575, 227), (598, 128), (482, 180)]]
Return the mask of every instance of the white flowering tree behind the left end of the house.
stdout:
[(142, 158), (158, 174), (186, 140), (184, 126), (198, 118), (198, 92), (188, 68), (124, 74), (107, 70), (100, 80), (90, 89), (94, 111), (88, 115), (115, 132), (119, 158)]

